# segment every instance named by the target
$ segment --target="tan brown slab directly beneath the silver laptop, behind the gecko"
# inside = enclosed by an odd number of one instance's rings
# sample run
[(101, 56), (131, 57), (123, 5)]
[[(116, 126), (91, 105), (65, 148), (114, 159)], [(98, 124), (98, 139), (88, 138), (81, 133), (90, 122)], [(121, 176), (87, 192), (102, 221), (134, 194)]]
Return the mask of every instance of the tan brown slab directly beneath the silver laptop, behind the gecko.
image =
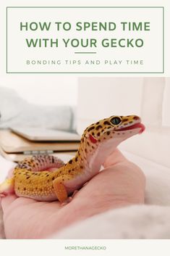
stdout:
[[(22, 153), (29, 151), (53, 151), (53, 152), (69, 152), (77, 151), (79, 142), (33, 142), (28, 141), (12, 131), (0, 131), (0, 146), (5, 153)], [(35, 152), (36, 153), (36, 152)], [(40, 152), (41, 153), (41, 152)]]

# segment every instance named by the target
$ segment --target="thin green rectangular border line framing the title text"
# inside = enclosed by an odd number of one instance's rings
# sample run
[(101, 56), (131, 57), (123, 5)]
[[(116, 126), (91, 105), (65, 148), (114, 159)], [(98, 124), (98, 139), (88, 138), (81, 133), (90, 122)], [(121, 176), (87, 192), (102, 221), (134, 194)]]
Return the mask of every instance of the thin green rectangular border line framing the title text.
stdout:
[[(8, 52), (6, 49), (6, 57), (7, 57), (7, 63), (6, 63), (6, 73), (7, 74), (163, 74), (164, 73), (164, 7), (6, 7), (6, 24), (8, 25), (8, 9), (9, 8), (58, 8), (58, 9), (66, 9), (66, 8), (72, 8), (72, 9), (83, 9), (83, 8), (93, 8), (93, 9), (98, 9), (98, 8), (103, 8), (103, 9), (108, 9), (108, 8), (114, 8), (114, 9), (140, 9), (140, 8), (147, 8), (147, 9), (162, 9), (163, 11), (163, 66), (162, 66), (162, 72), (8, 72)], [(8, 30), (7, 30), (7, 35), (6, 35), (6, 40), (8, 39)], [(6, 45), (8, 44), (8, 41), (6, 42)], [(7, 47), (8, 48), (8, 47)]]

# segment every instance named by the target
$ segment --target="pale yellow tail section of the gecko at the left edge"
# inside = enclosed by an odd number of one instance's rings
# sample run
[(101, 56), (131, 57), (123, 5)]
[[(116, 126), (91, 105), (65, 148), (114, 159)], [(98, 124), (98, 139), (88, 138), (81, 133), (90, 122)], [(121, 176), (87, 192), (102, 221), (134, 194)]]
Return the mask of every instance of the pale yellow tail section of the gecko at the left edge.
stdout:
[(0, 184), (0, 197), (5, 197), (7, 194), (14, 193), (14, 178), (7, 178)]

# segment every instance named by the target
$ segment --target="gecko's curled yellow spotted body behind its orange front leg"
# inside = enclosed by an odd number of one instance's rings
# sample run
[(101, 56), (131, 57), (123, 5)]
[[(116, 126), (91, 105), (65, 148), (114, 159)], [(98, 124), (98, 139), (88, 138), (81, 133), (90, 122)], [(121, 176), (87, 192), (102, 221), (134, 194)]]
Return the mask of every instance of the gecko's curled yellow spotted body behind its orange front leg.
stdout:
[(53, 181), (60, 173), (48, 169), (62, 166), (63, 161), (48, 154), (26, 158), (14, 168), (15, 194), (41, 201), (56, 199)]

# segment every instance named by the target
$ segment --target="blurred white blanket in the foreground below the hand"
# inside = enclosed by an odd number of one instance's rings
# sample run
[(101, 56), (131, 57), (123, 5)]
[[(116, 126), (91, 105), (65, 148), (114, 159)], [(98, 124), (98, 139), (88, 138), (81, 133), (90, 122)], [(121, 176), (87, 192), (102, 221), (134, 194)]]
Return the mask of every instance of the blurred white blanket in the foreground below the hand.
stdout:
[[(92, 228), (93, 227), (93, 228)], [(52, 239), (170, 239), (170, 207), (135, 205), (95, 215)]]

